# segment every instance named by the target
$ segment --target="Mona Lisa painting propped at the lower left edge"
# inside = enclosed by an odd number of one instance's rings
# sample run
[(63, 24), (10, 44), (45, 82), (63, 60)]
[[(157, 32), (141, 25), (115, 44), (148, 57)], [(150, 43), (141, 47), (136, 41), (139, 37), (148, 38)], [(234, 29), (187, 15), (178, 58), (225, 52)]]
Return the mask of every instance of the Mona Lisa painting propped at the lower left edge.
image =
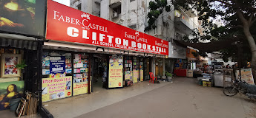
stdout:
[(0, 111), (9, 109), (9, 101), (22, 98), (24, 92), (24, 81), (13, 81), (0, 83)]

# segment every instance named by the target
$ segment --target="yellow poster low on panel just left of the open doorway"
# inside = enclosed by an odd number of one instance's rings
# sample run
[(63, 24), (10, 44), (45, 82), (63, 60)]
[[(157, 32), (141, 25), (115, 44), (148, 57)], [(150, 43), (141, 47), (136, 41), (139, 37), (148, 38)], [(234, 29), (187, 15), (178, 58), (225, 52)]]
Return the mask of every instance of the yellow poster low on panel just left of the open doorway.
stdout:
[(73, 80), (73, 95), (88, 93), (88, 79)]

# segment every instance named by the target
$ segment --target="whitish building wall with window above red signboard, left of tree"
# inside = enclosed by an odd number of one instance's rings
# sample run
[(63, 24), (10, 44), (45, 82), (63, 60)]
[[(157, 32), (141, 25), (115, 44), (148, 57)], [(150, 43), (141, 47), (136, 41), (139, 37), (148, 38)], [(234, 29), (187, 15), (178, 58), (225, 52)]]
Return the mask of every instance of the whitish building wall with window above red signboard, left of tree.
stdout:
[(147, 22), (148, 0), (120, 0), (121, 1), (121, 14), (117, 18), (112, 18), (113, 8), (109, 7), (110, 0), (101, 1), (101, 17), (117, 24), (122, 21), (122, 26), (129, 27), (136, 25), (136, 30), (144, 32), (145, 23)]

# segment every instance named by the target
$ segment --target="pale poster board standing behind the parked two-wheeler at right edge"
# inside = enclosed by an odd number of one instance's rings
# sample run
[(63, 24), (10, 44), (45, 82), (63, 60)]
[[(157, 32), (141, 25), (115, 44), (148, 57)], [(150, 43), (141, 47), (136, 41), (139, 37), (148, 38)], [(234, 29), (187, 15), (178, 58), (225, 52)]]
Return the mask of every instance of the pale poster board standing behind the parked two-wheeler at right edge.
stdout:
[[(239, 70), (236, 72), (236, 77), (238, 78)], [(252, 76), (252, 68), (249, 69), (241, 69), (241, 78), (242, 80), (245, 80), (246, 83), (255, 85), (255, 82), (253, 80)]]

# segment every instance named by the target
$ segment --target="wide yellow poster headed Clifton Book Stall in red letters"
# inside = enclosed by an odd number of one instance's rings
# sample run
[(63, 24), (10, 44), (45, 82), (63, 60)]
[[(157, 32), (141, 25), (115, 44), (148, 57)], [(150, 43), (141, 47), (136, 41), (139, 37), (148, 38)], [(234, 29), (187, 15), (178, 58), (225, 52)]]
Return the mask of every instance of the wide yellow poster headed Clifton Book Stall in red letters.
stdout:
[(42, 102), (70, 97), (72, 76), (42, 79)]

